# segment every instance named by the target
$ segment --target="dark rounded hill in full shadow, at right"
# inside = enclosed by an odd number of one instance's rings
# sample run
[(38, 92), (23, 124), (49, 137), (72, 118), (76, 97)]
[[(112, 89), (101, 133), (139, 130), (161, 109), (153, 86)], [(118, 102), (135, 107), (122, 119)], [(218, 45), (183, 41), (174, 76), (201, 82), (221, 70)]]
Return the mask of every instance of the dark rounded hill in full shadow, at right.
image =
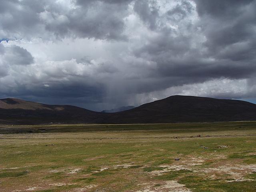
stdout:
[(241, 100), (177, 95), (114, 113), (107, 122), (174, 123), (241, 120), (256, 120), (256, 104)]

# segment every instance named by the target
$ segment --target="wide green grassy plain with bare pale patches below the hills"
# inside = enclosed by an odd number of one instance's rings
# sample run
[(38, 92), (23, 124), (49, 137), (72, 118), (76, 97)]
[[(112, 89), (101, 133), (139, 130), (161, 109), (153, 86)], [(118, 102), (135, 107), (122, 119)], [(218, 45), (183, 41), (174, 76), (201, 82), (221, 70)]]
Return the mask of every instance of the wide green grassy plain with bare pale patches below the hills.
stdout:
[(255, 192), (256, 122), (3, 125), (12, 191)]

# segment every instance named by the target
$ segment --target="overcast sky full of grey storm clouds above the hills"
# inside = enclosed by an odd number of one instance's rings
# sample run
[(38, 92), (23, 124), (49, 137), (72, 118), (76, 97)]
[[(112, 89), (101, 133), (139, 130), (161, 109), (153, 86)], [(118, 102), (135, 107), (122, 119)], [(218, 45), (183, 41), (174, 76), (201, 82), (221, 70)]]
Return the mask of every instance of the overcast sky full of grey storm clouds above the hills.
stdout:
[(256, 0), (1, 0), (0, 98), (101, 111), (256, 102)]

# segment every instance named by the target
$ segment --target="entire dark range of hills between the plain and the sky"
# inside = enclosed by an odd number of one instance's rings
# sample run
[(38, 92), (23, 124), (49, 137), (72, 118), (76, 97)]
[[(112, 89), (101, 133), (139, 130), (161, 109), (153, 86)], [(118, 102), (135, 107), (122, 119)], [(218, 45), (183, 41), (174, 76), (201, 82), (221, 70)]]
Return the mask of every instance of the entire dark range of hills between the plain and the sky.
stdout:
[(0, 123), (175, 123), (256, 120), (256, 104), (240, 100), (170, 96), (115, 113), (70, 105), (46, 105), (16, 98), (0, 99)]

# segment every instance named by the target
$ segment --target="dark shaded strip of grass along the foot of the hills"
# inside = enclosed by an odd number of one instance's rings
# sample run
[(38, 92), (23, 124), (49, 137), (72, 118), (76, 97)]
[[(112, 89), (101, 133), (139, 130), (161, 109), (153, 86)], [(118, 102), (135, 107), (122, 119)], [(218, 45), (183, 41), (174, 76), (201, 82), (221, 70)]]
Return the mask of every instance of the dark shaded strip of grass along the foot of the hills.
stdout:
[[(8, 127), (7, 129), (5, 127)], [(254, 130), (256, 121), (167, 123), (167, 124), (49, 124), (49, 125), (0, 125), (0, 134), (13, 133), (60, 133), (94, 131), (169, 130), (176, 133), (207, 132), (222, 130)], [(43, 129), (43, 130), (42, 130)], [(196, 135), (195, 135), (196, 136)]]

